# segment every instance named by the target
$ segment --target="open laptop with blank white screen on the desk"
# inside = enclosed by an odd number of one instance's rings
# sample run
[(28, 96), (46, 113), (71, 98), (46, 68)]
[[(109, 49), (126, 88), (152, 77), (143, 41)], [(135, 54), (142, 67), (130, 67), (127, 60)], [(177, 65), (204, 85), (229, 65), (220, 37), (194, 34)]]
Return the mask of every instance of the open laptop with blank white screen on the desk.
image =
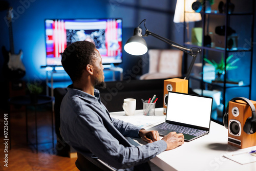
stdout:
[(158, 131), (160, 136), (169, 132), (182, 133), (185, 141), (209, 134), (212, 97), (168, 92), (165, 122), (148, 130)]

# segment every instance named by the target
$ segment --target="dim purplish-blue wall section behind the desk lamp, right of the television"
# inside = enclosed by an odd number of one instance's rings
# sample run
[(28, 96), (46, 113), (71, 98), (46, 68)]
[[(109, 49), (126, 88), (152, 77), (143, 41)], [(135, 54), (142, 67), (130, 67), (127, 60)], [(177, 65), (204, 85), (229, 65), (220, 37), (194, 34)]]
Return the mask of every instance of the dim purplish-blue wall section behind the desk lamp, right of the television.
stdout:
[[(173, 16), (176, 2), (161, 0), (156, 3), (155, 0), (147, 1), (111, 1), (108, 6), (109, 17), (123, 18), (123, 44), (133, 35), (133, 31), (139, 26), (143, 19), (146, 19), (146, 28), (153, 33), (163, 37), (173, 39), (175, 25)], [(140, 25), (145, 33), (144, 23)], [(148, 49), (165, 49), (169, 46), (153, 36), (144, 37)], [(132, 56), (123, 52), (123, 63), (119, 65), (123, 68), (124, 79), (135, 79), (138, 75), (148, 72), (148, 56)]]

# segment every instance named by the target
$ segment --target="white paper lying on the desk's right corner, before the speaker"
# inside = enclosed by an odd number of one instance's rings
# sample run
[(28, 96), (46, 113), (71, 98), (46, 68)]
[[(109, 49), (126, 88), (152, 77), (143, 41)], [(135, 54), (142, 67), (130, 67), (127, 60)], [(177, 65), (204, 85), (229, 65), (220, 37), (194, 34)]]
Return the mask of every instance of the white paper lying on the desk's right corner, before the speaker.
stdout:
[(238, 162), (240, 164), (247, 164), (247, 163), (256, 162), (256, 154), (255, 153), (249, 153), (249, 152), (240, 152), (240, 153), (227, 154), (227, 155), (224, 155), (224, 157), (226, 157), (230, 160), (233, 160), (235, 162)]

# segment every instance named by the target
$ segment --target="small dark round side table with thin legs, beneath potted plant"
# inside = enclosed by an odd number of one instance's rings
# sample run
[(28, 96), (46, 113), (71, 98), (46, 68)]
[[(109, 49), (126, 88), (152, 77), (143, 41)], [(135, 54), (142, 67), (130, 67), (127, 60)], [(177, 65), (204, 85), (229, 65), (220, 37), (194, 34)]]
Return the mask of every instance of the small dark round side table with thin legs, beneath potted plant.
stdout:
[[(45, 95), (38, 95), (37, 102), (31, 102), (30, 96), (16, 96), (9, 99), (10, 104), (14, 105), (25, 105), (26, 106), (26, 137), (28, 142), (28, 110), (27, 106), (34, 106), (35, 107), (35, 134), (36, 134), (36, 153), (38, 153), (38, 142), (37, 142), (37, 112), (36, 107), (38, 105), (51, 103), (54, 100), (53, 97), (45, 96)], [(51, 110), (52, 111), (52, 110)], [(11, 136), (11, 135), (10, 135)], [(54, 147), (54, 133), (53, 133), (53, 111), (52, 111), (52, 145)], [(10, 137), (10, 147), (11, 147), (11, 137)]]

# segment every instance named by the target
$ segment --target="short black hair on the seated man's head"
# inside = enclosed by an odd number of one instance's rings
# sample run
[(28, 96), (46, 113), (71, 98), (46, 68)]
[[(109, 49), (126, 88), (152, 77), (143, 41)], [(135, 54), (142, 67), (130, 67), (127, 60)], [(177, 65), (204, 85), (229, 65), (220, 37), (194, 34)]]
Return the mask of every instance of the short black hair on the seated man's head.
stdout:
[(88, 64), (92, 64), (95, 56), (95, 45), (92, 42), (76, 41), (63, 52), (62, 67), (74, 82), (81, 78), (82, 71)]

